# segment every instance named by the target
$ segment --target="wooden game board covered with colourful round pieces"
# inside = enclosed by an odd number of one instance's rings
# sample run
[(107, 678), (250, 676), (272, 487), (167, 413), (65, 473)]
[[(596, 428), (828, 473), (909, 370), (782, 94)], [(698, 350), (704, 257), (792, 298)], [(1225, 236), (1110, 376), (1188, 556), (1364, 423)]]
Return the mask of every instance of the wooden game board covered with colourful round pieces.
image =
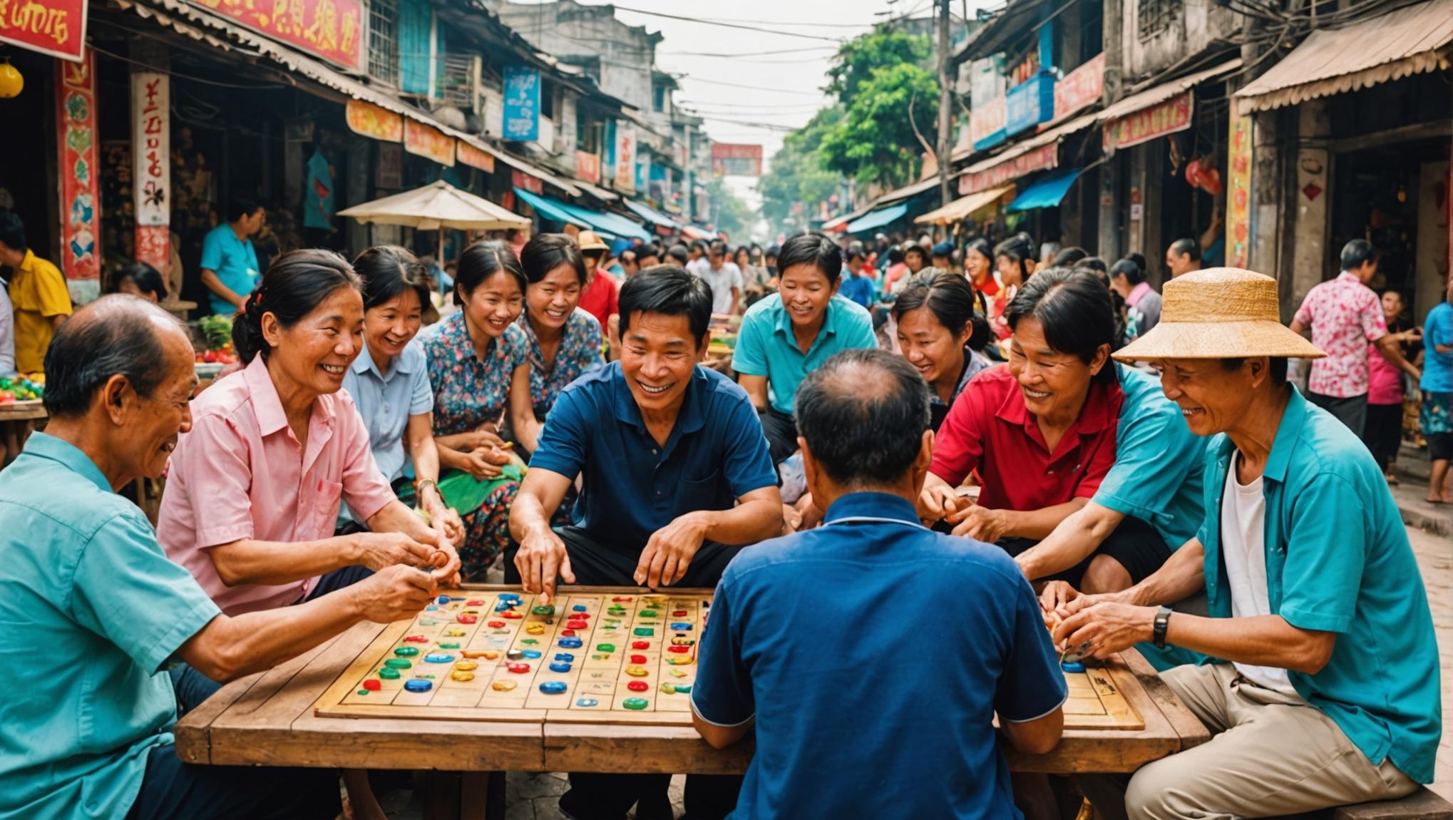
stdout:
[[(548, 612), (533, 595), (479, 590), (445, 598), (413, 621), (385, 627), (324, 692), (315, 714), (692, 724), (696, 641), (706, 625), (711, 593), (562, 590)], [(571, 615), (583, 615), (577, 624), (584, 621), (586, 628), (570, 628)], [(580, 646), (572, 646), (577, 640)], [(511, 650), (526, 657), (511, 660)], [(391, 660), (408, 666), (398, 669), (397, 678), (381, 678)], [(529, 669), (511, 672), (513, 663)], [(404, 683), (420, 676), (430, 682), (429, 691), (405, 691)], [(1067, 728), (1145, 728), (1110, 669), (1091, 666), (1067, 672), (1065, 679)], [(542, 683), (555, 682), (564, 683), (564, 692), (541, 691)], [(628, 699), (636, 708), (626, 708)]]

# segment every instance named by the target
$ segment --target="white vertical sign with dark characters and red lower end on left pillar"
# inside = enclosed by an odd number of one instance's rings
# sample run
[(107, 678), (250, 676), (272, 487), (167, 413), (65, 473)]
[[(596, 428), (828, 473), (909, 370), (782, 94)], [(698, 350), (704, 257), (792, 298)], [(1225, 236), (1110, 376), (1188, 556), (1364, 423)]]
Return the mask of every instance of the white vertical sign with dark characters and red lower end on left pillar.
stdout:
[(166, 270), (171, 259), (171, 89), (166, 74), (131, 76), (131, 163), (137, 260)]

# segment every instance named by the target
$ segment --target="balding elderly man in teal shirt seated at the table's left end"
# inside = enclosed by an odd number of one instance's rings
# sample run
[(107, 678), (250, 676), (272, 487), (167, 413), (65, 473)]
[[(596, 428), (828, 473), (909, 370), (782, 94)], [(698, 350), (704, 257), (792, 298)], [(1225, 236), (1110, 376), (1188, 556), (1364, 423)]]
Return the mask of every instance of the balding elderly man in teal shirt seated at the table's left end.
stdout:
[(190, 426), (182, 324), (105, 297), (57, 331), (45, 372), (49, 425), (0, 473), (0, 820), (334, 817), (337, 772), (182, 763), (163, 670), (267, 669), (365, 618), (411, 616), (433, 576), (391, 567), (347, 595), (219, 614), (113, 491), (158, 475)]

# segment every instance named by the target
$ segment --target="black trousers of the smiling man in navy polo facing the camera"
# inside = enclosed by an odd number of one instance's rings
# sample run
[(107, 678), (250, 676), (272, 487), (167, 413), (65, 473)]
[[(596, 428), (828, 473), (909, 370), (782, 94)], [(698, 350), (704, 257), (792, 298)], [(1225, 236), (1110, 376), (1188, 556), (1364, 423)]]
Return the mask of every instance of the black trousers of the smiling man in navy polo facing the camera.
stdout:
[[(635, 570), (644, 544), (618, 544), (596, 538), (578, 526), (558, 526), (555, 535), (565, 542), (575, 583), (581, 586), (638, 586)], [(715, 587), (722, 571), (741, 547), (702, 544), (677, 584), (679, 587)], [(514, 566), (519, 545), (504, 550), (504, 583), (520, 583)], [(622, 820), (632, 805), (636, 820), (671, 819), (667, 789), (671, 775), (602, 775), (571, 772), (570, 791), (561, 795), (559, 808), (575, 820)], [(686, 813), (692, 820), (725, 817), (737, 807), (741, 791), (738, 775), (687, 775)]]

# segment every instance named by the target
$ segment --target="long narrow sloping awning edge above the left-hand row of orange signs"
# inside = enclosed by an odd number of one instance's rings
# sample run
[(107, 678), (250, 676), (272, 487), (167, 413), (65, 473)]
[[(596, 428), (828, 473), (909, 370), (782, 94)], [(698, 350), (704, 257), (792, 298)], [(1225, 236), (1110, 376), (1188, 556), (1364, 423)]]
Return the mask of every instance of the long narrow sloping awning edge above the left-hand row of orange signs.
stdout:
[[(503, 161), (504, 164), (514, 167), (529, 176), (533, 176), (542, 182), (559, 188), (571, 196), (578, 196), (580, 189), (570, 185), (568, 182), (559, 179), (558, 176), (545, 172), (525, 160), (513, 157), (498, 148), (494, 148), (488, 142), (479, 140), (472, 134), (465, 134), (456, 131), (437, 119), (429, 116), (427, 113), (418, 110), (417, 108), (407, 106), (397, 99), (381, 93), (375, 89), (359, 83), (346, 74), (325, 65), (323, 61), (308, 57), (299, 51), (294, 51), (273, 39), (259, 35), (246, 26), (234, 23), (231, 20), (222, 19), (216, 15), (209, 13), (206, 9), (193, 6), (185, 0), (147, 0), (147, 3), (137, 3), (135, 0), (115, 0), (116, 6), (125, 10), (135, 12), (144, 19), (155, 20), (158, 25), (170, 28), (177, 33), (189, 36), (192, 39), (206, 42), (208, 45), (221, 48), (224, 51), (231, 51), (232, 44), (240, 44), (246, 47), (243, 51), (247, 55), (262, 55), (273, 63), (295, 71), (324, 87), (333, 89), (347, 97), (356, 100), (363, 100), (385, 110), (394, 112), (400, 116), (405, 116), (416, 122), (421, 122), (430, 128), (437, 128), (439, 131), (465, 142), (472, 147), (490, 154), (491, 157)], [(183, 22), (185, 20), (185, 22)], [(195, 25), (193, 25), (195, 23)], [(208, 29), (222, 32), (231, 42), (221, 38), (212, 36), (205, 31), (196, 28), (198, 25), (206, 26)]]

